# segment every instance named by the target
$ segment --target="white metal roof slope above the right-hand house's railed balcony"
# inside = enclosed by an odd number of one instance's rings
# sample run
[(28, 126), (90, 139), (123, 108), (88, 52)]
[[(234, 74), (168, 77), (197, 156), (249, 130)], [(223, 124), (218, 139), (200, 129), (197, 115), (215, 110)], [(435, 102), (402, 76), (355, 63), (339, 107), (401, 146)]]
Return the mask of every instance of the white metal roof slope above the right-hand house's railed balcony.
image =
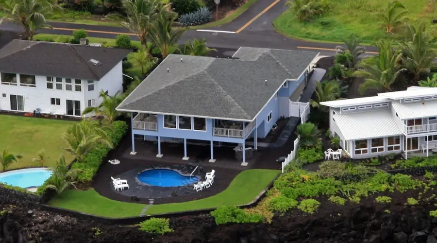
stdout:
[(437, 117), (437, 101), (412, 103), (393, 102), (392, 105), (401, 120)]

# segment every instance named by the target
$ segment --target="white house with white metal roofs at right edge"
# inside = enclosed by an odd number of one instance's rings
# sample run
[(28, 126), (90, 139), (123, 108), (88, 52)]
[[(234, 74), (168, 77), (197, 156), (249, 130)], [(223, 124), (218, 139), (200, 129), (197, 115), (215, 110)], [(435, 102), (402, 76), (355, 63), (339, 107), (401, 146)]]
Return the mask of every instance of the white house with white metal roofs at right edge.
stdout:
[(320, 104), (330, 107), (330, 132), (351, 158), (437, 152), (437, 88), (409, 87)]

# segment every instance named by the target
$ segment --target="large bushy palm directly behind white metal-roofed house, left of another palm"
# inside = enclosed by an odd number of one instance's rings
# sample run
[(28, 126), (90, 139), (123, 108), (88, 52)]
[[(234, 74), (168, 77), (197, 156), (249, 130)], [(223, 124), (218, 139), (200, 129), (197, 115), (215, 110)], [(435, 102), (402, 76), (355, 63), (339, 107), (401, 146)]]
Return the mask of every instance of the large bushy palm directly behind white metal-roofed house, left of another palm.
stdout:
[(391, 91), (391, 85), (396, 82), (399, 74), (406, 69), (398, 69), (397, 64), (402, 59), (400, 50), (392, 47), (391, 41), (380, 40), (376, 43), (379, 53), (370, 58), (362, 60), (353, 75), (365, 78), (365, 82), (359, 87), (362, 94), (368, 88), (384, 88)]

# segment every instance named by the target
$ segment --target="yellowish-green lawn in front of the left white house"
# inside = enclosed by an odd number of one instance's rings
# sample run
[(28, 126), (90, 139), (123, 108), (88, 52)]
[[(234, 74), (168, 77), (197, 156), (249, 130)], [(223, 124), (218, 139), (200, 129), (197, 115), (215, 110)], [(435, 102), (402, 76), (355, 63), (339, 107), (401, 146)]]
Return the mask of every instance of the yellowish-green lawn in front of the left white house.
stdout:
[(73, 156), (65, 153), (67, 144), (61, 134), (72, 124), (73, 121), (0, 115), (0, 151), (9, 148), (10, 153), (23, 155), (8, 169), (39, 166), (32, 159), (41, 149), (45, 150), (46, 156), (50, 156), (45, 166), (54, 166), (61, 154), (70, 163)]

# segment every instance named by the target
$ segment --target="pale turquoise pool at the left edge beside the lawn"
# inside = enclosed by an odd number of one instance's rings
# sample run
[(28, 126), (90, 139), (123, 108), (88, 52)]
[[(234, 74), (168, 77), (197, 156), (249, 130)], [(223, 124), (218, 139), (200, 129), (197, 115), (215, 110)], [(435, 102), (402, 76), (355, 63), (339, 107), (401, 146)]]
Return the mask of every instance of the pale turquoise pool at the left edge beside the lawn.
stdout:
[(51, 171), (45, 168), (30, 168), (0, 173), (0, 182), (11, 186), (39, 187), (49, 179)]

